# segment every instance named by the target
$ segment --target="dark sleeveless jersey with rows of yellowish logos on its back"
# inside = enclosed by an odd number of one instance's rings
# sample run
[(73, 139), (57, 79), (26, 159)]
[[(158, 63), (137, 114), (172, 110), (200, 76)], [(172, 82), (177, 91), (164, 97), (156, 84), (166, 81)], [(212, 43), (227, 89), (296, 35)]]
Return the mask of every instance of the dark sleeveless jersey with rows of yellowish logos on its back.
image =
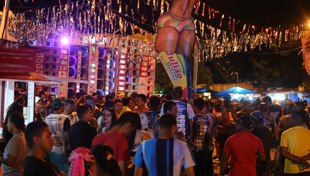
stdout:
[(207, 130), (210, 127), (210, 121), (208, 117), (201, 114), (195, 114), (193, 120), (193, 132), (194, 132), (194, 145), (193, 151), (205, 151), (205, 138)]

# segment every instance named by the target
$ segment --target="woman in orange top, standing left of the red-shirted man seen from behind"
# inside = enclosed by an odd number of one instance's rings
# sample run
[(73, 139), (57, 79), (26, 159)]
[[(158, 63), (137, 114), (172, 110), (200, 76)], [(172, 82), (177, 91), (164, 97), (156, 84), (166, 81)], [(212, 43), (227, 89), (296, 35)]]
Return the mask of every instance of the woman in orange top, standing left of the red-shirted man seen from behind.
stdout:
[(221, 113), (217, 116), (219, 122), (217, 126), (217, 129), (219, 130), (217, 135), (217, 140), (219, 142), (219, 159), (221, 159), (223, 155), (227, 139), (235, 132), (234, 119), (232, 113), (228, 112), (227, 104), (221, 104), (220, 110)]

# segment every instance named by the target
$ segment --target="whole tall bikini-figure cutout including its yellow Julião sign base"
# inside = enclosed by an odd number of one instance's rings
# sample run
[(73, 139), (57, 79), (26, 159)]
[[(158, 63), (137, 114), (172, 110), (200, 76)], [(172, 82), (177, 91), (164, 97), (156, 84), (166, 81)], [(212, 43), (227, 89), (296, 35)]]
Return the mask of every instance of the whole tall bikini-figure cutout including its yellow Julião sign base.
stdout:
[(199, 42), (191, 14), (197, 1), (172, 0), (156, 24), (155, 50), (173, 86), (182, 86), (184, 99), (192, 99), (196, 92)]

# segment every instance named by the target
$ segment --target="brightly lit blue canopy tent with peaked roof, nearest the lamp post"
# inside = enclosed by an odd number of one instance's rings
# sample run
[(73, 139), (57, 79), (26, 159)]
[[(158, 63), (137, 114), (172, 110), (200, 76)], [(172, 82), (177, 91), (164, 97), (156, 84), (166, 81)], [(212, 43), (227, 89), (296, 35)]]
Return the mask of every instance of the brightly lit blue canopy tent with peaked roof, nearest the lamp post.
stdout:
[[(232, 87), (230, 89), (212, 94), (216, 95), (217, 97), (231, 97), (231, 99), (241, 99), (241, 98), (248, 98), (253, 99), (253, 97), (261, 97), (262, 94), (258, 92), (254, 92), (252, 90), (247, 90), (242, 87)], [(250, 98), (251, 97), (251, 98)]]

